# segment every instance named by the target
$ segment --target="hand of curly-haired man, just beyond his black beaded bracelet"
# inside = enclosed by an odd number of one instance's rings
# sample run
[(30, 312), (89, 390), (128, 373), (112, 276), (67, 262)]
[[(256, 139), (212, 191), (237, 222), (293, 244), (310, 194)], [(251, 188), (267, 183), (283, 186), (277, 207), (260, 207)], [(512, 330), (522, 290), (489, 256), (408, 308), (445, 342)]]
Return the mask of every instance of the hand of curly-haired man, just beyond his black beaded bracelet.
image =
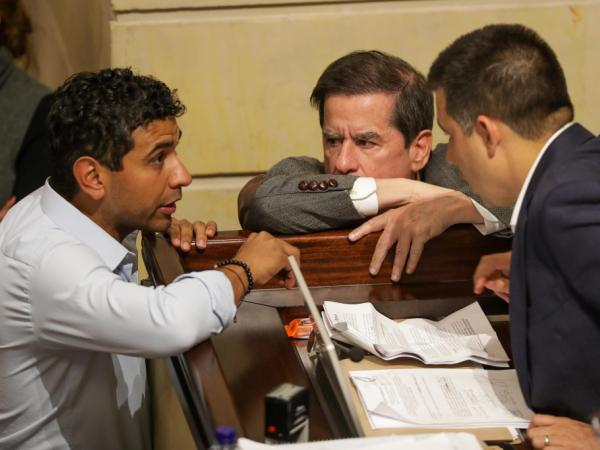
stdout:
[(294, 255), (300, 263), (300, 250), (266, 231), (252, 233), (235, 255), (248, 264), (256, 284), (265, 284), (277, 277), (286, 288), (294, 286), (295, 278), (288, 256)]

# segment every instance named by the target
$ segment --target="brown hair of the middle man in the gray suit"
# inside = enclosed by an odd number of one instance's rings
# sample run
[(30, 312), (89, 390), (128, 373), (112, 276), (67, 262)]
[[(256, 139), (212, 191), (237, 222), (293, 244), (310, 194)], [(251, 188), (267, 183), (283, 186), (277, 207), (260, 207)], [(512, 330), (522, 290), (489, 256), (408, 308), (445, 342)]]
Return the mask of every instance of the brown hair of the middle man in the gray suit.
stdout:
[(352, 52), (327, 66), (310, 103), (318, 108), (323, 126), (327, 96), (375, 93), (396, 96), (390, 120), (407, 144), (433, 126), (433, 96), (425, 77), (403, 59), (376, 50)]

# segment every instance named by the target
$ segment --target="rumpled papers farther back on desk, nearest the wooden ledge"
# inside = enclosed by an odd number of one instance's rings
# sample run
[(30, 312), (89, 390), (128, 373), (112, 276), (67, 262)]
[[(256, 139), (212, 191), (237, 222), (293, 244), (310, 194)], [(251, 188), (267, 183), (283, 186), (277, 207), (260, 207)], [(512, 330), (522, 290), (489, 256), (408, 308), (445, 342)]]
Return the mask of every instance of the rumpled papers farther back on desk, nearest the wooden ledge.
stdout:
[(416, 358), (425, 364), (456, 364), (466, 360), (508, 367), (508, 355), (479, 303), (435, 322), (394, 322), (371, 303), (326, 301), (323, 318), (331, 337), (357, 345), (384, 360)]

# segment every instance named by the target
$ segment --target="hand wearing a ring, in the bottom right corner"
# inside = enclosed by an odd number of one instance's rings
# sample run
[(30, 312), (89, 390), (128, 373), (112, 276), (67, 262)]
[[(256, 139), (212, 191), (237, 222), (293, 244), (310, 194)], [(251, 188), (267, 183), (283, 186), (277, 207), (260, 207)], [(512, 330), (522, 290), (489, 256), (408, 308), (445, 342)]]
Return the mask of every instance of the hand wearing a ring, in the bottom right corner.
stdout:
[(598, 450), (600, 442), (590, 424), (545, 414), (531, 420), (527, 436), (533, 448), (545, 450)]

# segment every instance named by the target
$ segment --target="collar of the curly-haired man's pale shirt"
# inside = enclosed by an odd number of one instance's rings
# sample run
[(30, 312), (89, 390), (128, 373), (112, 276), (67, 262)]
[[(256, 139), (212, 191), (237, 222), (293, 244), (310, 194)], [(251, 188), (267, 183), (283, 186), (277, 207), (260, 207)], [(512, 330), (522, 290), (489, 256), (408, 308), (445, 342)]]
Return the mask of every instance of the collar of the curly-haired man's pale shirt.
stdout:
[(41, 206), (58, 227), (93, 248), (111, 271), (127, 255), (122, 244), (52, 189), (48, 180), (42, 188)]

